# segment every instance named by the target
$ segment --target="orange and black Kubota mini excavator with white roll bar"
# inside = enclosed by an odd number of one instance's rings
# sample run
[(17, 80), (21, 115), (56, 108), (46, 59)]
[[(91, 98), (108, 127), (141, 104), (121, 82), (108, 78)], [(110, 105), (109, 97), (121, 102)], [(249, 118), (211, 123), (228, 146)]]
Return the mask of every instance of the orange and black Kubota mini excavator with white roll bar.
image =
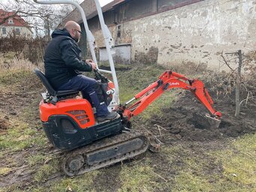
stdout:
[[(71, 4), (81, 12), (84, 26), (87, 32), (88, 43), (96, 63), (94, 52), (94, 38), (87, 26), (84, 11), (80, 5), (71, 0), (34, 0), (41, 4)], [(145, 110), (148, 105), (162, 95), (166, 90), (181, 88), (190, 90), (191, 93), (209, 110), (207, 115), (211, 122), (218, 127), (221, 122), (221, 112), (215, 111), (213, 102), (206, 87), (198, 79), (188, 79), (176, 72), (167, 70), (133, 99), (120, 105), (117, 77), (114, 70), (114, 62), (111, 56), (112, 38), (108, 27), (105, 26), (102, 10), (98, 0), (95, 0), (105, 38), (111, 72), (97, 68), (96, 81), (102, 87), (102, 94), (108, 105), (108, 111), (117, 111), (114, 120), (97, 122), (94, 110), (87, 99), (78, 96), (78, 90), (56, 91), (39, 69), (34, 72), (41, 79), (47, 92), (41, 93), (40, 117), (44, 132), (56, 148), (65, 154), (62, 161), (62, 169), (69, 176), (81, 175), (93, 169), (100, 169), (114, 163), (136, 157), (148, 149), (152, 151), (159, 148), (160, 143), (154, 136), (139, 131), (131, 130), (130, 119)], [(113, 82), (105, 78), (100, 72), (112, 75)]]

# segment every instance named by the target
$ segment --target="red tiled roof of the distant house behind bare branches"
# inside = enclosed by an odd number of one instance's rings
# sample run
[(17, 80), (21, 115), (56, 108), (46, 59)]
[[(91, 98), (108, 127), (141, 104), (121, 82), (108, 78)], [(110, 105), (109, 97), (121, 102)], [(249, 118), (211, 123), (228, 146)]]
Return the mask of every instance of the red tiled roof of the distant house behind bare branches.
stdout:
[[(11, 16), (11, 17), (10, 17)], [(15, 12), (9, 12), (9, 11), (4, 11), (0, 9), (0, 23), (6, 18), (10, 17), (10, 19), (13, 20), (13, 23), (9, 23), (9, 19), (5, 21), (2, 25), (4, 26), (26, 26), (28, 27), (28, 24), (26, 23), (23, 18), (18, 16)]]

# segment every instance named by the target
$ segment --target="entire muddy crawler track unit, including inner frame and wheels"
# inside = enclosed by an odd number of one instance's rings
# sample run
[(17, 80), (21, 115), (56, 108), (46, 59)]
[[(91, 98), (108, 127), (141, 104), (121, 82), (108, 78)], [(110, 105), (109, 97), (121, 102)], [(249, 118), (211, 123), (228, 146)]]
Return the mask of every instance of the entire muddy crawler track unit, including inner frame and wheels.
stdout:
[(62, 169), (69, 176), (82, 175), (136, 157), (147, 151), (149, 145), (150, 141), (144, 134), (121, 133), (66, 152)]

